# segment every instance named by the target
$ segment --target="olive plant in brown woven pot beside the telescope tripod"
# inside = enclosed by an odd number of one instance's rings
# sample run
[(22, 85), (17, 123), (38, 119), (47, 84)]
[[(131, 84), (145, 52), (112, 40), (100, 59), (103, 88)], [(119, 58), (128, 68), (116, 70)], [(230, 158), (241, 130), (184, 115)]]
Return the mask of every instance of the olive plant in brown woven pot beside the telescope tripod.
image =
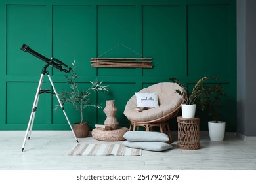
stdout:
[[(80, 112), (81, 121), (75, 123), (73, 126), (75, 135), (79, 138), (87, 137), (89, 135), (89, 125), (87, 122), (83, 121), (83, 110), (85, 107), (102, 108), (101, 105), (91, 104), (90, 95), (91, 92), (108, 92), (108, 86), (104, 86), (102, 81), (98, 82), (98, 80), (94, 80), (93, 82), (90, 81), (91, 87), (89, 87), (87, 90), (80, 91), (77, 84), (77, 79), (79, 79), (79, 77), (76, 73), (75, 60), (72, 63), (72, 66), (72, 75), (65, 76), (68, 84), (70, 84), (70, 90), (63, 91), (58, 95), (60, 96), (62, 105), (64, 105), (64, 103), (70, 103), (72, 105), (71, 108), (74, 108)], [(56, 107), (59, 107), (59, 105), (56, 105)]]

